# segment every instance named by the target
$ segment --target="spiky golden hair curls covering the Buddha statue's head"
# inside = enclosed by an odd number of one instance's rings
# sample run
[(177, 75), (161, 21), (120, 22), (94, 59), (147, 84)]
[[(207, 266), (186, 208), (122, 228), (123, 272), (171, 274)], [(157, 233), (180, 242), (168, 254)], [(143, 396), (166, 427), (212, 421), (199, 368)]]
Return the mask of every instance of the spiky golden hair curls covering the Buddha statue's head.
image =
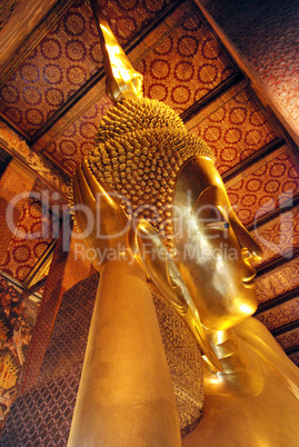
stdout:
[(141, 98), (119, 102), (103, 117), (88, 161), (128, 218), (148, 220), (172, 250), (178, 172), (190, 157), (201, 156), (213, 157), (172, 109)]

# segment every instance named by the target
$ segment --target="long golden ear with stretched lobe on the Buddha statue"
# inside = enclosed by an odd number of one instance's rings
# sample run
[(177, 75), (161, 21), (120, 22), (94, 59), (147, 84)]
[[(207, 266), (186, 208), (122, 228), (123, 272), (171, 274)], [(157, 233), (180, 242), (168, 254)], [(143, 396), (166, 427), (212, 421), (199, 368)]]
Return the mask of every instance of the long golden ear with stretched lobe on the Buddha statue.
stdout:
[(175, 307), (195, 335), (208, 368), (212, 372), (222, 370), (209, 345), (193, 300), (158, 230), (147, 220), (139, 220), (133, 226), (131, 247), (162, 297)]

